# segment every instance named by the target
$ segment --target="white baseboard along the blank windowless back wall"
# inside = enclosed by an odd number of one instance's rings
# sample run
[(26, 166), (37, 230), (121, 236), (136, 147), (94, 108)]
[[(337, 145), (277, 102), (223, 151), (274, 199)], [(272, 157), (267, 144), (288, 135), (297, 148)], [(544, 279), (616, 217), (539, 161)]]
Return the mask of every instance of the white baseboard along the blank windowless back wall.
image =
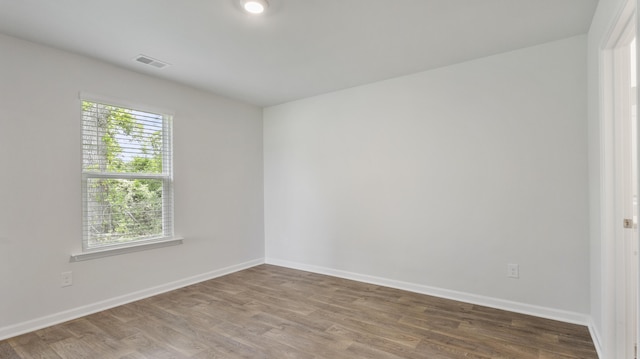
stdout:
[(371, 283), (390, 288), (402, 289), (410, 292), (432, 295), (435, 297), (457, 300), (460, 302), (482, 305), (486, 307), (508, 310), (510, 312), (533, 315), (536, 317), (558, 320), (561, 322), (589, 326), (590, 317), (587, 314), (569, 312), (553, 308), (541, 307), (526, 303), (512, 302), (499, 298), (485, 297), (477, 294), (458, 292), (449, 289), (430, 287), (422, 284), (402, 282), (393, 279), (374, 277), (366, 274), (358, 274), (339, 269), (313, 266), (302, 263), (289, 262), (276, 258), (266, 258), (265, 263), (282, 267), (299, 269), (308, 272), (326, 274), (359, 282)]

